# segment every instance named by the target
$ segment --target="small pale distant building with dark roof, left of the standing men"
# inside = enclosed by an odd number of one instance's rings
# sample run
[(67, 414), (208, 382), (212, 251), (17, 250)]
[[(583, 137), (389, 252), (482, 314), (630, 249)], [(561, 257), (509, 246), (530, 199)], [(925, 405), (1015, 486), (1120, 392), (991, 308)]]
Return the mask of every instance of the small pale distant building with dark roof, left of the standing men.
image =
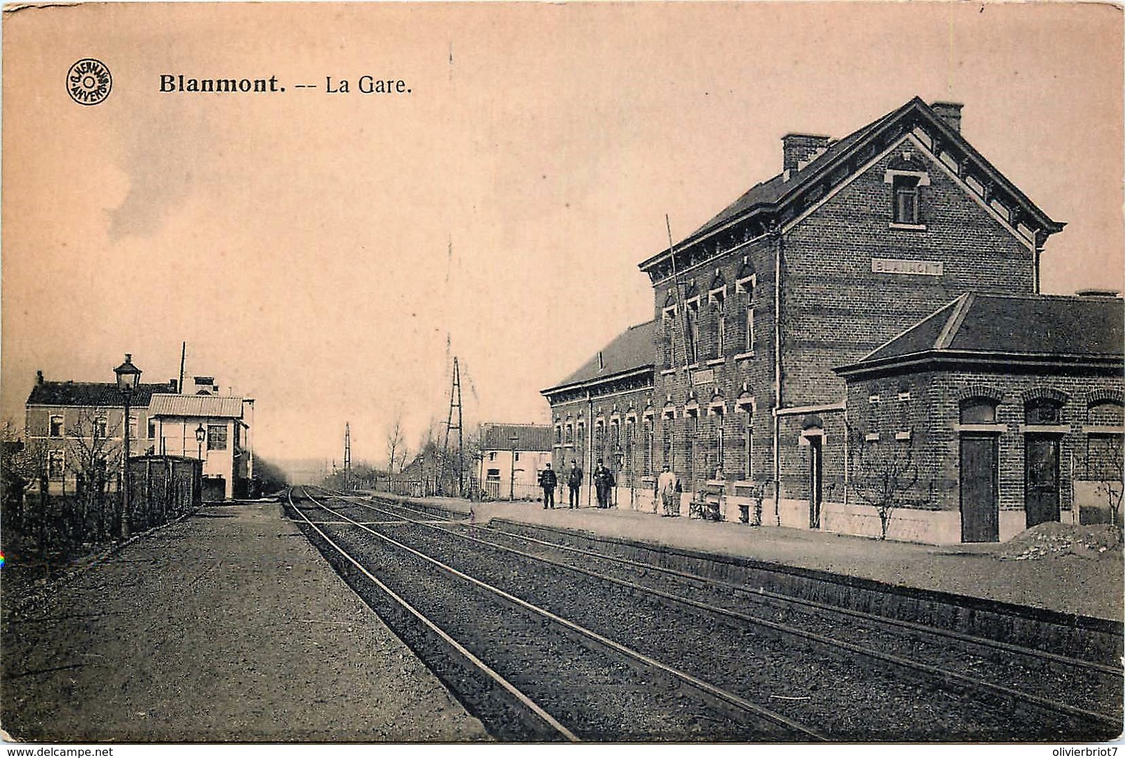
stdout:
[(480, 488), (492, 499), (542, 497), (539, 472), (551, 462), (551, 427), (538, 424), (480, 425)]

